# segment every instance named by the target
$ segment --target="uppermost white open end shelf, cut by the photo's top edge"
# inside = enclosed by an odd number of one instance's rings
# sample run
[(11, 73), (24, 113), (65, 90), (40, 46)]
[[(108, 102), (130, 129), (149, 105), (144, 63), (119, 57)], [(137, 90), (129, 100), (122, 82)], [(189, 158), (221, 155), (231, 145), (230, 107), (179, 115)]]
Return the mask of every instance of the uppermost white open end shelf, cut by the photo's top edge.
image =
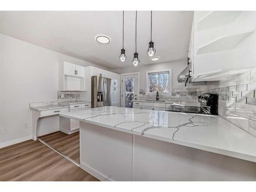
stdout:
[(197, 25), (197, 31), (202, 31), (234, 22), (242, 11), (210, 11)]

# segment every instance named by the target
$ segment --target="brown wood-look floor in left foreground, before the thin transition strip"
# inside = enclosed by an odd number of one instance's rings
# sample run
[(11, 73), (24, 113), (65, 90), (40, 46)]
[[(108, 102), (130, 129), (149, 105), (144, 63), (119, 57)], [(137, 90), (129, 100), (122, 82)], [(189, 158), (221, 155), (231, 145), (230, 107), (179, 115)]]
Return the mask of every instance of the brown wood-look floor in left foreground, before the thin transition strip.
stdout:
[(0, 181), (98, 181), (39, 141), (0, 148)]

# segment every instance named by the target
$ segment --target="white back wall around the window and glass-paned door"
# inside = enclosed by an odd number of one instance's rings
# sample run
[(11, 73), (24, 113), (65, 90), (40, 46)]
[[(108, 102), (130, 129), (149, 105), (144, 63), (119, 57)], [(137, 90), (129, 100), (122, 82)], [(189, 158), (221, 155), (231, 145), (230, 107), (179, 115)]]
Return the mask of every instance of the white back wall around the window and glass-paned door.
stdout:
[(173, 69), (173, 78), (172, 85), (173, 89), (184, 89), (184, 83), (179, 83), (177, 80), (177, 76), (180, 72), (186, 67), (186, 60), (176, 60), (170, 61), (166, 63), (156, 63), (151, 65), (140, 65), (138, 67), (134, 67), (131, 64), (131, 67), (116, 69), (114, 72), (122, 74), (122, 73), (132, 73), (132, 72), (140, 72), (140, 88), (145, 90), (145, 75), (146, 71), (153, 70), (161, 70), (161, 69)]

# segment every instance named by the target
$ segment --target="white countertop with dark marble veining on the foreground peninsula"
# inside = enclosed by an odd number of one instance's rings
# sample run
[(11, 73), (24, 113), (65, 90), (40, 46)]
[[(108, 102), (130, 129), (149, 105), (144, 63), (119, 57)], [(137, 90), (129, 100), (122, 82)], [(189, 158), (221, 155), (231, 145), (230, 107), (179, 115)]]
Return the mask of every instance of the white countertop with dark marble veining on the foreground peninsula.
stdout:
[(103, 106), (60, 116), (256, 162), (256, 138), (214, 115)]

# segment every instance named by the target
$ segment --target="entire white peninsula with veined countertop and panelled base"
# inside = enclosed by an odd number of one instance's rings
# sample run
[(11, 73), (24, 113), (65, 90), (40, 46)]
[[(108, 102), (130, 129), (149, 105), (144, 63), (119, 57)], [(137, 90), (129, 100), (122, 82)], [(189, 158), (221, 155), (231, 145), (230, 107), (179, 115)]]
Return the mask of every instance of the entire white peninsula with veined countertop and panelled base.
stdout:
[(99, 180), (256, 180), (256, 138), (214, 115), (104, 106), (80, 121), (80, 166)]

